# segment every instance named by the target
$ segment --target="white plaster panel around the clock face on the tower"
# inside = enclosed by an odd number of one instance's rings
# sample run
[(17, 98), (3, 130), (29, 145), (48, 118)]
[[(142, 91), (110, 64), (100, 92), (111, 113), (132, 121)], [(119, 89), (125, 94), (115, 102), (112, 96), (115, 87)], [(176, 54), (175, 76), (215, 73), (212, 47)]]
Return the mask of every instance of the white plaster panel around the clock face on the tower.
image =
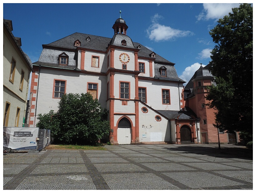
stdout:
[(121, 53), (126, 53), (130, 56), (130, 62), (127, 63), (126, 65), (126, 70), (135, 70), (135, 56), (134, 52), (128, 51), (128, 50), (121, 50), (121, 49), (116, 49), (114, 52), (114, 68), (116, 69), (123, 69), (122, 68), (122, 63), (119, 60), (119, 56)]

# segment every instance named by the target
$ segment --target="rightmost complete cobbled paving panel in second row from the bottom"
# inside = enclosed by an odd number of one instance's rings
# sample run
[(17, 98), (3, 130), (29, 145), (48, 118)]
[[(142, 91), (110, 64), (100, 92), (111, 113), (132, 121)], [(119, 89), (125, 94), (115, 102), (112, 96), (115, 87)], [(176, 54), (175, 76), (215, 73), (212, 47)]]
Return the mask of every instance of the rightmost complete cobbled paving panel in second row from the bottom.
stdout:
[(239, 169), (238, 167), (226, 166), (219, 163), (200, 163), (200, 165), (198, 165), (198, 163), (184, 163), (184, 164), (188, 166), (197, 167), (203, 170), (238, 170)]

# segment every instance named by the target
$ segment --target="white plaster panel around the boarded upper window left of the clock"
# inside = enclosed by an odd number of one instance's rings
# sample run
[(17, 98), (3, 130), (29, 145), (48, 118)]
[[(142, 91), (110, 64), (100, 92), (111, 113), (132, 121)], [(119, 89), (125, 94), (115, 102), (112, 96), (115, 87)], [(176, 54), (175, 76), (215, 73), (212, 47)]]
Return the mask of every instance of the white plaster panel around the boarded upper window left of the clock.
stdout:
[[(99, 56), (99, 59), (100, 59), (99, 68), (91, 67), (92, 56)], [(93, 71), (93, 72), (106, 72), (107, 71), (107, 55), (99, 52), (97, 53), (97, 52), (86, 51), (84, 69), (88, 71)]]

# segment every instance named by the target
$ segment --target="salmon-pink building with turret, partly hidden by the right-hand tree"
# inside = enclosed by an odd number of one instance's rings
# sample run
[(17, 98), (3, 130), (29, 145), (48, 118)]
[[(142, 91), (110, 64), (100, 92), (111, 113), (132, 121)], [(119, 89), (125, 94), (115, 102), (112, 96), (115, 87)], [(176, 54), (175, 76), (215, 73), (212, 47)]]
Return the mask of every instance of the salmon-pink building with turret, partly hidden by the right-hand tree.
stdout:
[(215, 123), (214, 110), (209, 109), (205, 104), (209, 101), (205, 96), (209, 92), (207, 86), (214, 84), (214, 78), (209, 71), (211, 63), (207, 66), (201, 67), (194, 73), (184, 88), (184, 102), (185, 108), (189, 107), (196, 115), (200, 124), (201, 143), (238, 143), (238, 133), (224, 133), (222, 129), (213, 126)]

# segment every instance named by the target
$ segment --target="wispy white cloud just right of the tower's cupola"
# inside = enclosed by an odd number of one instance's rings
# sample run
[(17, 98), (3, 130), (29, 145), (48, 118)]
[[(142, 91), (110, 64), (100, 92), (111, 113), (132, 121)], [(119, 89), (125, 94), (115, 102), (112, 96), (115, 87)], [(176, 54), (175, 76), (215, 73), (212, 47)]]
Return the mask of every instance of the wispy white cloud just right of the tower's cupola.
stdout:
[(169, 26), (160, 25), (158, 20), (162, 18), (163, 17), (158, 14), (151, 17), (152, 25), (150, 25), (146, 30), (150, 40), (158, 42), (164, 40), (175, 40), (175, 38), (194, 35), (194, 33), (191, 31), (182, 31), (173, 29)]

